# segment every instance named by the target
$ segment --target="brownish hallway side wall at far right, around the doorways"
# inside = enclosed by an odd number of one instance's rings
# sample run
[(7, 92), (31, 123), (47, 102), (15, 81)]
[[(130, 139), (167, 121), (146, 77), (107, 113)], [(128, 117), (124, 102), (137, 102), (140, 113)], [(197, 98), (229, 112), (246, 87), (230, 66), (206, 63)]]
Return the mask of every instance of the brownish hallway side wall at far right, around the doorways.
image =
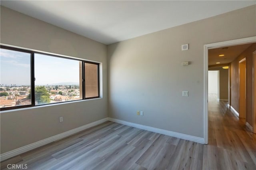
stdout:
[(231, 106), (239, 112), (239, 61), (246, 58), (246, 121), (252, 125), (252, 53), (256, 50), (253, 43), (230, 65), (231, 69)]

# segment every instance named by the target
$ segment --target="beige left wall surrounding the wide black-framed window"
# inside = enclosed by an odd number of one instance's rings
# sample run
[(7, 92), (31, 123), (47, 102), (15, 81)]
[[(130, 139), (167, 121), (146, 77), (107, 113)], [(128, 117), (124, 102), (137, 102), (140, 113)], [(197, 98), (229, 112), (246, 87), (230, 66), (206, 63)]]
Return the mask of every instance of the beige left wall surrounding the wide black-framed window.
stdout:
[(102, 99), (1, 112), (1, 153), (108, 117), (106, 45), (2, 6), (0, 19), (1, 43), (98, 61), (103, 69)]

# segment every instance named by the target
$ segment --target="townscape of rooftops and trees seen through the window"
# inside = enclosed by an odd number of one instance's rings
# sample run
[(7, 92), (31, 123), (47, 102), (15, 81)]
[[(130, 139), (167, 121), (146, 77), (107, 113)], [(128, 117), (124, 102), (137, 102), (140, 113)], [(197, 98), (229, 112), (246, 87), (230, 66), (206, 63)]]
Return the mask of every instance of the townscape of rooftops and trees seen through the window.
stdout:
[[(30, 90), (30, 86), (1, 85), (0, 108), (31, 105)], [(36, 105), (81, 99), (79, 85), (36, 86), (35, 93)]]

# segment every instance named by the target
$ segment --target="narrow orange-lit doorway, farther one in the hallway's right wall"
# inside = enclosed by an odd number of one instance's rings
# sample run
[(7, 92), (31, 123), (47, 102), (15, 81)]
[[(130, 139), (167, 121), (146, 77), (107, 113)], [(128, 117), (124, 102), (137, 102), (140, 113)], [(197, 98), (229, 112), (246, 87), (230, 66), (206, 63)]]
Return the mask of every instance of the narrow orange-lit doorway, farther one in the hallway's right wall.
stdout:
[(246, 58), (239, 61), (239, 117), (246, 118)]

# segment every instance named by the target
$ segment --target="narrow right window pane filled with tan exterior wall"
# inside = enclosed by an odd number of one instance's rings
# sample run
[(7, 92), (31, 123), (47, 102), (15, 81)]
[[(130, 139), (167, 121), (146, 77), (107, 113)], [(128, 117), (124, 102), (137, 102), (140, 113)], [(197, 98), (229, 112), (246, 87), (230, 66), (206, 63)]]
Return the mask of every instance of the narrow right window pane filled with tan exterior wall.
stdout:
[(98, 96), (98, 65), (85, 63), (85, 97)]

